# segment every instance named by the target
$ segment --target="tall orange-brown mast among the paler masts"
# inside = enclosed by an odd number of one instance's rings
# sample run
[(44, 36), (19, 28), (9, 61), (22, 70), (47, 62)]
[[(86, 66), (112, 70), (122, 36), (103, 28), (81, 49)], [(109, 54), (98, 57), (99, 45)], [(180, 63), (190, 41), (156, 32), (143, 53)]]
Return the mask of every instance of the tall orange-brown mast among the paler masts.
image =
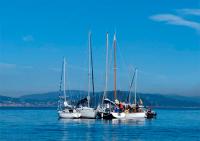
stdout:
[(116, 75), (117, 75), (117, 65), (116, 65), (116, 33), (114, 34), (114, 98), (117, 99), (117, 80), (116, 80)]

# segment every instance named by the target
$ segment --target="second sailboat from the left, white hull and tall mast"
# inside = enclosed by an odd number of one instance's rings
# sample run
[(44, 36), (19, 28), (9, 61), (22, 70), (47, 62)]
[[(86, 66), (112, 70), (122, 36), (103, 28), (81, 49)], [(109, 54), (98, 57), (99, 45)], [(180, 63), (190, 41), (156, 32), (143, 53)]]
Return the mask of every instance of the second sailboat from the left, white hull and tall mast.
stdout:
[(88, 42), (88, 96), (85, 100), (87, 102), (87, 106), (83, 104), (79, 104), (77, 110), (81, 113), (81, 118), (90, 118), (94, 119), (97, 116), (97, 111), (90, 107), (90, 80), (91, 80), (91, 68), (92, 68), (92, 92), (94, 96), (94, 74), (93, 74), (93, 58), (92, 58), (92, 47), (91, 47), (91, 32), (89, 32), (89, 42)]

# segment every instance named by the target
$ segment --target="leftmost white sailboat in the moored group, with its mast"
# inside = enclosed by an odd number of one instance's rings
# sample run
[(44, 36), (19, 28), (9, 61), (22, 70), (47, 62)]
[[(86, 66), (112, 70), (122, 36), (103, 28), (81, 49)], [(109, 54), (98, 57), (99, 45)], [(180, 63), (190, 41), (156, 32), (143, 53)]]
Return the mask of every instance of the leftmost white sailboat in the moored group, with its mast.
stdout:
[(62, 68), (62, 75), (61, 75), (61, 82), (60, 82), (60, 92), (61, 92), (61, 85), (62, 85), (62, 79), (63, 79), (63, 95), (64, 95), (64, 101), (63, 97), (59, 95), (59, 101), (58, 101), (58, 116), (59, 118), (66, 118), (66, 119), (74, 119), (74, 118), (80, 118), (81, 114), (78, 112), (73, 105), (69, 105), (67, 98), (66, 98), (66, 72), (65, 72), (65, 65), (66, 61), (65, 58), (63, 60), (63, 68)]

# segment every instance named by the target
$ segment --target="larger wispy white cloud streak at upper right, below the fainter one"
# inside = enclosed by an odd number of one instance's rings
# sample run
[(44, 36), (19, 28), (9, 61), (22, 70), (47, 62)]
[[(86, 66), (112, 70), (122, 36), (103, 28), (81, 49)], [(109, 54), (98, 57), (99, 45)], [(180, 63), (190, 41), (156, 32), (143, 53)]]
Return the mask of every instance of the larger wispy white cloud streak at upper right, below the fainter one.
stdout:
[(151, 16), (150, 19), (157, 22), (165, 22), (166, 24), (186, 26), (195, 30), (200, 30), (200, 23), (186, 20), (180, 16), (176, 16), (173, 14), (157, 14)]

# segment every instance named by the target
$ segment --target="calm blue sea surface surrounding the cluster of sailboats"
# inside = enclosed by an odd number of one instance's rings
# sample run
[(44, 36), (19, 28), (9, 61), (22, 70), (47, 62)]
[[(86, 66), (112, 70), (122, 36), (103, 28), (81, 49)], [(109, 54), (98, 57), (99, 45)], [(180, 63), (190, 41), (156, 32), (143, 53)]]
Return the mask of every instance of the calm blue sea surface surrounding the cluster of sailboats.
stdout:
[(152, 120), (58, 120), (54, 109), (0, 108), (0, 141), (200, 140), (200, 110), (156, 109)]

